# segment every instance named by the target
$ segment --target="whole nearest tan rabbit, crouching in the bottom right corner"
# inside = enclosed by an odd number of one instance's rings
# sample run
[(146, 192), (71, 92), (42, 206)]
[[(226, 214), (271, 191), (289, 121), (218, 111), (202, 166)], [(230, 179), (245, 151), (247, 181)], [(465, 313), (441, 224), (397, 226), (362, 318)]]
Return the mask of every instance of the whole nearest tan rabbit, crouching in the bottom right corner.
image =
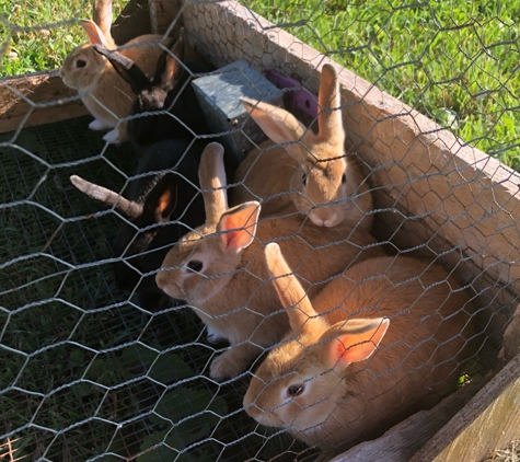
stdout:
[(245, 394), (245, 411), (258, 423), (287, 428), (327, 460), (457, 386), (475, 335), (473, 308), (442, 266), (368, 259), (311, 304), (279, 246), (265, 254), (291, 332)]

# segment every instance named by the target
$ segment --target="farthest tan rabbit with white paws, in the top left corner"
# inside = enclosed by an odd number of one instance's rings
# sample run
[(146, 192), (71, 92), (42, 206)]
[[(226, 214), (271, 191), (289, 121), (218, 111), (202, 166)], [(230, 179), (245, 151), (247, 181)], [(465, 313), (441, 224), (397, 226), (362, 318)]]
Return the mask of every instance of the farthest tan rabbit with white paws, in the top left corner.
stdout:
[[(96, 23), (82, 20), (81, 25), (89, 36), (89, 44), (74, 48), (63, 61), (59, 74), (63, 83), (78, 90), (81, 101), (94, 116), (89, 125), (93, 130), (108, 131), (103, 139), (111, 143), (127, 140), (126, 123), (117, 125), (119, 118), (127, 117), (136, 99), (130, 85), (114, 70), (108, 60), (99, 55), (93, 45), (115, 49), (117, 46), (109, 33), (112, 25), (112, 1), (96, 1), (94, 4)], [(128, 42), (118, 51), (131, 58), (146, 72), (151, 72), (162, 48), (162, 35), (141, 35)], [(166, 37), (167, 41), (167, 37)]]

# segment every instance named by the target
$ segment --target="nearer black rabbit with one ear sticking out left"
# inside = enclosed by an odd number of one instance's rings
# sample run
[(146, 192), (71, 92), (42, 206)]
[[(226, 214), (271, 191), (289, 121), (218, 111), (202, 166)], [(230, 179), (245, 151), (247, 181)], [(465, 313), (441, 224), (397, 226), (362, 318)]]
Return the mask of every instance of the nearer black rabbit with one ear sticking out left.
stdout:
[(207, 142), (164, 140), (149, 148), (124, 192), (118, 193), (72, 175), (72, 184), (108, 207), (123, 220), (115, 242), (116, 285), (137, 294), (148, 310), (172, 305), (173, 301), (157, 287), (155, 273), (167, 251), (186, 232), (204, 223), (198, 165)]

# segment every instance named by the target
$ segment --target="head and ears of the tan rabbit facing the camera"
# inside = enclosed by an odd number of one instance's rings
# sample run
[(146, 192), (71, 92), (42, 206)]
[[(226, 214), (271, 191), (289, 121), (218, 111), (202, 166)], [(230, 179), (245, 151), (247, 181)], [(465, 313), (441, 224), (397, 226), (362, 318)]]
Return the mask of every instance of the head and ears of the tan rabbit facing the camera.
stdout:
[(324, 65), (320, 81), (319, 130), (314, 134), (289, 112), (263, 102), (241, 100), (253, 119), (298, 164), (290, 180), (296, 208), (316, 226), (335, 227), (372, 209), (368, 185), (345, 152), (345, 129), (336, 69)]

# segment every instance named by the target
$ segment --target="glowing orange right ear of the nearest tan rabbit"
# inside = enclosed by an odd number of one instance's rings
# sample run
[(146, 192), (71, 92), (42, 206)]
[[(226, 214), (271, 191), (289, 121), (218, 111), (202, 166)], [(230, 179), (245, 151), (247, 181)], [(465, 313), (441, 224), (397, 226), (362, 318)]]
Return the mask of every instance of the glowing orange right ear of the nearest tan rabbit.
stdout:
[[(384, 317), (340, 321), (333, 325), (321, 340), (324, 348), (324, 362), (331, 368), (346, 368), (351, 362), (370, 358), (390, 325)], [(327, 342), (327, 339), (331, 339)]]

